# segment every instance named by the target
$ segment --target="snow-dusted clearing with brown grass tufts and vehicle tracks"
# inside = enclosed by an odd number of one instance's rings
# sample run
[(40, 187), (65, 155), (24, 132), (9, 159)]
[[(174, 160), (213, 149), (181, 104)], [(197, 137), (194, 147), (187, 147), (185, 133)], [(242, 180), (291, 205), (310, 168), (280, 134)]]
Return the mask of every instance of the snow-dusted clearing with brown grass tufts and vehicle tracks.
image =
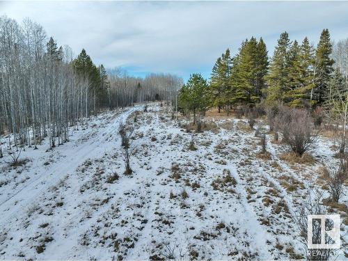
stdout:
[[(135, 129), (132, 175), (123, 174), (118, 134), (126, 120)], [(246, 120), (206, 120), (192, 138), (168, 108), (139, 105), (102, 113), (54, 150), (26, 148), (24, 166), (0, 161), (0, 259), (303, 257), (292, 214), (310, 186), (320, 187), (330, 141), (320, 140), (315, 164), (291, 164), (271, 134), (270, 155), (260, 156)]]

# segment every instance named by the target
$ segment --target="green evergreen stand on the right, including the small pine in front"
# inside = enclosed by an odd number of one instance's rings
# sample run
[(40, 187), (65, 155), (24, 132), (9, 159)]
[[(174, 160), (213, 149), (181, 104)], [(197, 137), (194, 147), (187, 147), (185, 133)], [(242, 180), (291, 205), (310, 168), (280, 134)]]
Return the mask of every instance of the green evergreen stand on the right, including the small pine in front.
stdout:
[[(257, 114), (276, 117), (279, 106), (307, 112), (316, 125), (340, 126), (341, 149), (345, 150), (348, 120), (348, 39), (332, 42), (328, 29), (320, 35), (317, 47), (304, 38), (301, 44), (281, 33), (273, 56), (260, 38), (246, 39), (232, 56), (226, 49), (217, 58), (207, 81), (201, 74), (191, 74), (178, 94), (180, 110), (193, 125), (208, 109), (219, 113), (244, 114), (255, 121)], [(288, 118), (283, 119), (290, 125)]]

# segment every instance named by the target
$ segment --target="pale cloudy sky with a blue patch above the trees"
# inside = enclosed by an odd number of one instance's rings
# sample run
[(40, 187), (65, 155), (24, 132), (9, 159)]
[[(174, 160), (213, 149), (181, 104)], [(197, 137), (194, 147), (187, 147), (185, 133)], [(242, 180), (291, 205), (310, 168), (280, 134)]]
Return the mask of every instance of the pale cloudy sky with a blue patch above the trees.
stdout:
[(75, 54), (85, 48), (96, 64), (129, 74), (192, 72), (209, 77), (216, 58), (245, 38), (262, 38), (269, 54), (280, 33), (317, 43), (324, 28), (331, 39), (348, 38), (343, 1), (31, 1), (1, 2), (0, 14), (42, 24), (59, 45)]

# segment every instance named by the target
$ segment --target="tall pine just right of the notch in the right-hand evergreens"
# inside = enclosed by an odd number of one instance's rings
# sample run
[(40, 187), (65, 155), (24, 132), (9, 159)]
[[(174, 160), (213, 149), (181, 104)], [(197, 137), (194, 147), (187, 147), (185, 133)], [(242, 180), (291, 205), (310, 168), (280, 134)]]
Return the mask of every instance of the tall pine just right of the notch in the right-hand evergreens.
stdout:
[(271, 60), (267, 102), (283, 101), (284, 94), (289, 90), (289, 52), (291, 45), (292, 42), (287, 32), (280, 34), (278, 45), (275, 48), (274, 56)]

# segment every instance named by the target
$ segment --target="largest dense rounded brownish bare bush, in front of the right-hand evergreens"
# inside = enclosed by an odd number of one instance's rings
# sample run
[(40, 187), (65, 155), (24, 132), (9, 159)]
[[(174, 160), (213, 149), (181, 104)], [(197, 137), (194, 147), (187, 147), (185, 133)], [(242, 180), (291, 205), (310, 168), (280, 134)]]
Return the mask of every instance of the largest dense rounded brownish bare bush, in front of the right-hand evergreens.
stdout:
[(313, 133), (313, 120), (308, 111), (301, 109), (282, 110), (277, 115), (278, 128), (283, 136), (283, 142), (290, 146), (297, 155), (316, 145), (317, 134)]

